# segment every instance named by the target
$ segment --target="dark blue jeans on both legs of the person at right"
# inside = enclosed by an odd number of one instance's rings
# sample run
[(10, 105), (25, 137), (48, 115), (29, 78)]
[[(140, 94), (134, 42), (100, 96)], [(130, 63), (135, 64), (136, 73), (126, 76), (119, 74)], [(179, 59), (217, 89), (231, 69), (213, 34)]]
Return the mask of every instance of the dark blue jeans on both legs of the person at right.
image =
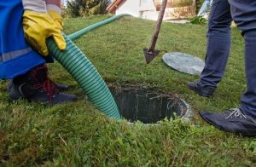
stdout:
[(240, 108), (256, 118), (256, 0), (213, 0), (207, 31), (206, 65), (201, 86), (216, 88), (230, 55), (230, 24), (236, 22), (245, 40), (247, 90)]

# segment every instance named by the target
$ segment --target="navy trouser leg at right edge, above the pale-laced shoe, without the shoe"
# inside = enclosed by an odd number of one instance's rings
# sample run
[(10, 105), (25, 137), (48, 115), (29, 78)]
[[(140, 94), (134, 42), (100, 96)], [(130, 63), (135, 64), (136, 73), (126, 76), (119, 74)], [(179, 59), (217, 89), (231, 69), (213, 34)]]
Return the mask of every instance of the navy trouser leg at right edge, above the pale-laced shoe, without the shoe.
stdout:
[(245, 40), (246, 92), (240, 109), (256, 119), (256, 1), (230, 0), (231, 14)]

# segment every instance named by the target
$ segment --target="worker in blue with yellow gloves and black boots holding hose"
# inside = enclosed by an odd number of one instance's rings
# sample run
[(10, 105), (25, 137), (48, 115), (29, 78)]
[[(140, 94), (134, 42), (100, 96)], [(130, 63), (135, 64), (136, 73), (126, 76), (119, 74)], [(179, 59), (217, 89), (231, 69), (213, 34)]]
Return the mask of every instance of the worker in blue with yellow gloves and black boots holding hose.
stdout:
[(59, 49), (66, 49), (61, 0), (2, 0), (0, 16), (0, 78), (10, 79), (10, 100), (49, 105), (75, 101), (74, 95), (60, 93), (67, 86), (50, 80), (45, 66), (53, 62), (46, 47), (48, 37)]

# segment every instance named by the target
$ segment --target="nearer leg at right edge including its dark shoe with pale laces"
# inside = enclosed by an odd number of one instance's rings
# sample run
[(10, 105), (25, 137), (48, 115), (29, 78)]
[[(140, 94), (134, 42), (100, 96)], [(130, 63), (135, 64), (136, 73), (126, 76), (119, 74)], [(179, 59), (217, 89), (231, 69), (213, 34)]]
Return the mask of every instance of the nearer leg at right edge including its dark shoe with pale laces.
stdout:
[(220, 130), (256, 136), (256, 1), (229, 0), (231, 15), (245, 39), (247, 90), (241, 105), (227, 112), (200, 112), (201, 117)]

